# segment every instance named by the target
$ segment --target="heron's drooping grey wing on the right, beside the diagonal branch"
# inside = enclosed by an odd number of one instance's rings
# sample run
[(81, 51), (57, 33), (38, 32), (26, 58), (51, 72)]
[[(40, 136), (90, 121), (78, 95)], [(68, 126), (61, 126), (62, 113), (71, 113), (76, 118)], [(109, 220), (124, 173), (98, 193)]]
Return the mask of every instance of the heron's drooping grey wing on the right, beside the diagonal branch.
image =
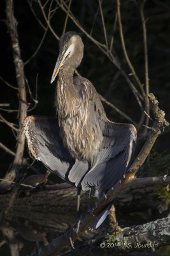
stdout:
[(103, 145), (96, 160), (83, 177), (81, 186), (98, 186), (100, 197), (107, 189), (114, 186), (127, 172), (136, 141), (136, 129), (131, 124), (117, 124), (103, 120)]

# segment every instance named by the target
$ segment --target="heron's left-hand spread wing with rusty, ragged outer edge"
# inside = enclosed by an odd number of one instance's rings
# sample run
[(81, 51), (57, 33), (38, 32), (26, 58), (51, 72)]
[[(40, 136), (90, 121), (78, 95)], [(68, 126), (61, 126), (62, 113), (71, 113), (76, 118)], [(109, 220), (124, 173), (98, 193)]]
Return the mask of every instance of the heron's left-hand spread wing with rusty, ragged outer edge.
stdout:
[(59, 132), (55, 117), (28, 116), (24, 121), (24, 134), (31, 156), (68, 181), (67, 173), (74, 160), (64, 148)]

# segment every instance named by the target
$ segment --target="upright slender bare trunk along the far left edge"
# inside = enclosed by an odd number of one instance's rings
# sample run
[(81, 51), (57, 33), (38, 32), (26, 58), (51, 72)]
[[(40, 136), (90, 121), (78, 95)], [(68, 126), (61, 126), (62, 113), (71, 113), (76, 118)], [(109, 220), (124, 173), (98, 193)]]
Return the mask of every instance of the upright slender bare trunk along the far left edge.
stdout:
[[(20, 47), (18, 43), (17, 20), (15, 19), (15, 16), (13, 13), (13, 0), (6, 0), (6, 18), (7, 18), (7, 26), (8, 26), (8, 31), (10, 33), (11, 44), (13, 49), (13, 62), (15, 65), (16, 79), (18, 84), (18, 100), (19, 100), (19, 131), (17, 135), (17, 150), (15, 154), (15, 159), (11, 166), (11, 170), (4, 177), (4, 179), (13, 181), (13, 179), (15, 179), (15, 172), (17, 172), (23, 164), (25, 136), (24, 134), (22, 134), (21, 128), (22, 128), (24, 119), (27, 116), (24, 63), (21, 58)], [(11, 193), (11, 198), (10, 198), (10, 201), (8, 202), (8, 205), (6, 205), (6, 207), (4, 207), (3, 211), (1, 212), (1, 220), (0, 220), (1, 223), (4, 220), (6, 214), (8, 214), (8, 211), (11, 205), (13, 204), (13, 200), (15, 200), (15, 196), (17, 195), (17, 191), (19, 189), (20, 181), (21, 179), (18, 180), (18, 184), (13, 188), (13, 192)]]

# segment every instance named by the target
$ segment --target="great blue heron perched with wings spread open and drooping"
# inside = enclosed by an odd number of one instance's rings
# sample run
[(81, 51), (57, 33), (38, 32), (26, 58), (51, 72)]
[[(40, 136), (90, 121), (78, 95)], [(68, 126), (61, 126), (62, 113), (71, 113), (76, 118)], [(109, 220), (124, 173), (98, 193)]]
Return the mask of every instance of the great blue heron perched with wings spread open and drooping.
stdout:
[[(57, 116), (28, 116), (24, 132), (34, 159), (77, 188), (96, 188), (100, 198), (127, 172), (136, 129), (132, 124), (110, 122), (92, 83), (73, 76), (83, 58), (83, 47), (77, 33), (61, 36), (51, 81), (58, 76)], [(102, 216), (104, 212), (101, 220)]]

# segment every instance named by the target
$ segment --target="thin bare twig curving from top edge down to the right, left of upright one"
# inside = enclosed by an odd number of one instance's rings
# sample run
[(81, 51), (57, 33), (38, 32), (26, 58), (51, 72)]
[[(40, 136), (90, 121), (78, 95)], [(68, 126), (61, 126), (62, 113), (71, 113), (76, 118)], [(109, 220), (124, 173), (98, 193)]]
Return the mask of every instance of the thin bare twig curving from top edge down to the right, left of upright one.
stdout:
[(124, 33), (123, 33), (123, 29), (122, 29), (122, 21), (121, 21), (121, 15), (120, 15), (120, 0), (117, 0), (117, 13), (118, 13), (118, 24), (119, 24), (120, 38), (121, 38), (121, 42), (122, 42), (122, 49), (124, 51), (124, 56), (127, 61), (127, 64), (129, 65), (129, 68), (132, 71), (134, 78), (136, 79), (136, 82), (139, 85), (139, 88), (141, 89), (141, 93), (142, 93), (143, 97), (145, 97), (145, 95), (148, 95), (148, 93), (145, 94), (145, 91), (143, 90), (143, 86), (142, 86), (141, 82), (139, 81), (138, 76), (136, 75), (134, 67), (132, 67), (131, 61), (129, 60), (129, 56), (127, 55), (127, 51), (125, 48)]

